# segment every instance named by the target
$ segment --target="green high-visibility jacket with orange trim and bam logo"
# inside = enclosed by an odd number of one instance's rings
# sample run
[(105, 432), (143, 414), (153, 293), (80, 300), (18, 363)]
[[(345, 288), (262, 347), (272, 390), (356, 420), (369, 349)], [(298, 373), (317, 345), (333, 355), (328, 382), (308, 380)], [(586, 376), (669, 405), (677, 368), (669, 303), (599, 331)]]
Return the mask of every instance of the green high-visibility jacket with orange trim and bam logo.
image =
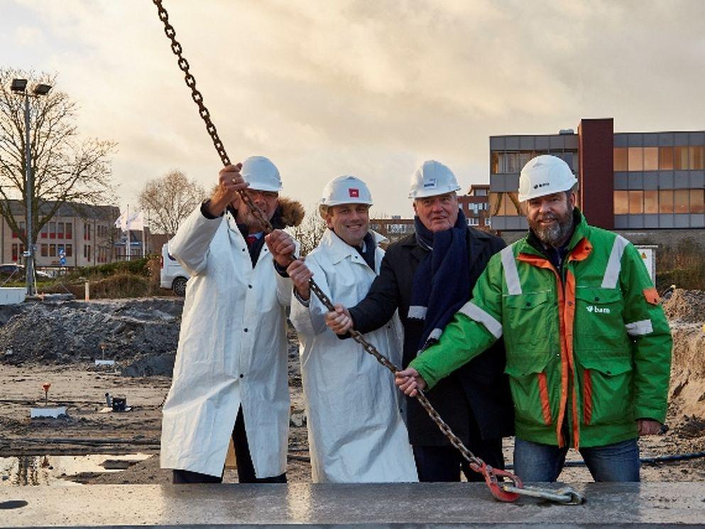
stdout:
[(508, 246), (410, 366), (432, 388), (504, 336), (517, 437), (577, 448), (665, 420), (672, 339), (638, 250), (575, 217), (562, 273), (528, 236)]

